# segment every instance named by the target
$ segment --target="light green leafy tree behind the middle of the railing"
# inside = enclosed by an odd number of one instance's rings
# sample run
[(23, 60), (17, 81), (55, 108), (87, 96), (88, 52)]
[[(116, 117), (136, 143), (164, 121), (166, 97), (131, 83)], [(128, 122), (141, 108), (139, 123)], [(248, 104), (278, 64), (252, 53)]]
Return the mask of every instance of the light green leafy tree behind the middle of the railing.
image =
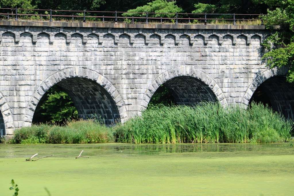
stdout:
[[(131, 13), (131, 12), (154, 12), (158, 14), (150, 14), (149, 17), (175, 17), (175, 14), (159, 14), (159, 13), (181, 13), (183, 9), (176, 5), (175, 1), (166, 0), (154, 0), (147, 3), (147, 5), (139, 6), (136, 9), (129, 9), (128, 13), (122, 14), (123, 16), (134, 16), (139, 17), (142, 14)], [(143, 14), (146, 16), (146, 14)]]

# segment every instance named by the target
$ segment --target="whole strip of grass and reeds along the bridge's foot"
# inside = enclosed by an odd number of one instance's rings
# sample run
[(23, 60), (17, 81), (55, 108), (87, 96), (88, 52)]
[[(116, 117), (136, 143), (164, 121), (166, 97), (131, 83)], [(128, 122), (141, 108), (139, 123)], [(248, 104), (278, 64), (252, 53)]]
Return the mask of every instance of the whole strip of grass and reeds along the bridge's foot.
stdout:
[(64, 126), (34, 125), (14, 132), (12, 143), (272, 143), (291, 137), (293, 122), (252, 104), (244, 110), (218, 103), (153, 106), (141, 116), (113, 127), (94, 120)]

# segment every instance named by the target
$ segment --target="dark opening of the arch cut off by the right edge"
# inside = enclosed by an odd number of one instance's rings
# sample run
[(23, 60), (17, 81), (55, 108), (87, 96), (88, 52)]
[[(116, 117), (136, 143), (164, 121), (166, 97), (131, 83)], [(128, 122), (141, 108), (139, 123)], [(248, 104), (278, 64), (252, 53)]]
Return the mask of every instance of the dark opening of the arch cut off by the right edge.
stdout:
[(253, 93), (249, 106), (253, 101), (268, 105), (286, 118), (294, 120), (294, 86), (283, 76), (275, 76), (263, 82)]

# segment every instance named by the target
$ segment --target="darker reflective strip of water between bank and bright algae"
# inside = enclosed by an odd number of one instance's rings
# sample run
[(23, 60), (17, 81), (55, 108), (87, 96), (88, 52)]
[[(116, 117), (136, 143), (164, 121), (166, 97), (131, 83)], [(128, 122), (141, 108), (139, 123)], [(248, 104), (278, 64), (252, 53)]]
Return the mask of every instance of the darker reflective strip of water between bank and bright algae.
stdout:
[(171, 153), (201, 153), (201, 152), (252, 152), (253, 154), (283, 154), (293, 153), (288, 144), (41, 144), (41, 145), (0, 145), (0, 158), (23, 157), (39, 153), (54, 154), (59, 157), (78, 155), (84, 150), (89, 156), (116, 155), (157, 155)]

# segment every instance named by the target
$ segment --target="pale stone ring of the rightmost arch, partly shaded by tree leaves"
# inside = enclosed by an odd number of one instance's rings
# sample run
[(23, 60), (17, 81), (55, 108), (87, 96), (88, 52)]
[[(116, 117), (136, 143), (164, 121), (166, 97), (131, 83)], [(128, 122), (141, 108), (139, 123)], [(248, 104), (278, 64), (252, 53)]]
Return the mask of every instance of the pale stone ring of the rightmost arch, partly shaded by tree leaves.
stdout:
[(248, 106), (249, 101), (251, 97), (253, 96), (253, 93), (263, 82), (265, 82), (266, 80), (274, 76), (285, 76), (287, 72), (288, 70), (286, 68), (280, 68), (280, 69), (267, 69), (261, 73), (257, 73), (243, 96), (242, 103), (245, 105), (245, 107)]

